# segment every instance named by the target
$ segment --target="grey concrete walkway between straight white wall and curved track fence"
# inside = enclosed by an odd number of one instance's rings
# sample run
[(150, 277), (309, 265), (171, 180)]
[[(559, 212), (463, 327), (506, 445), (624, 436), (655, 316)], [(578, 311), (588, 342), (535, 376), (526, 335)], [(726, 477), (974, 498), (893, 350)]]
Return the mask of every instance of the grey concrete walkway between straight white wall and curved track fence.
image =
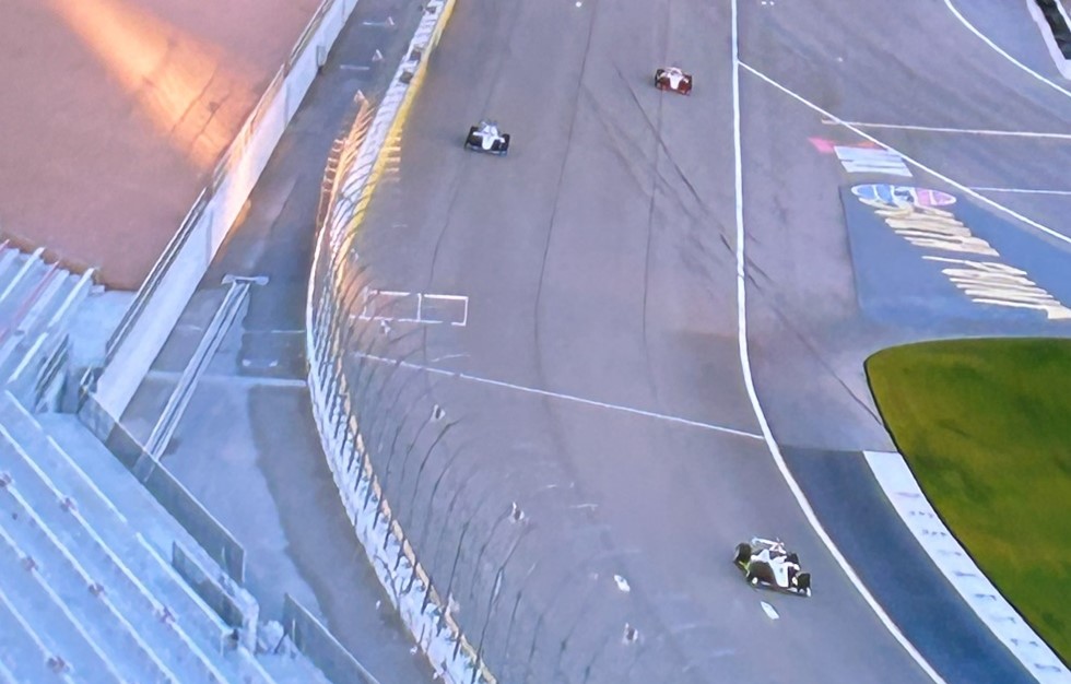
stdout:
[[(388, 16), (392, 27), (380, 25)], [(357, 5), (122, 418), (138, 438), (149, 435), (223, 299), (224, 275), (268, 279), (252, 287), (198, 382), (164, 462), (244, 545), (248, 587), (263, 616), (280, 618), (290, 593), (384, 684), (432, 675), (389, 610), (323, 458), (304, 380), (305, 292), (331, 143), (353, 115), (357, 91), (382, 92), (417, 19), (415, 4)]]

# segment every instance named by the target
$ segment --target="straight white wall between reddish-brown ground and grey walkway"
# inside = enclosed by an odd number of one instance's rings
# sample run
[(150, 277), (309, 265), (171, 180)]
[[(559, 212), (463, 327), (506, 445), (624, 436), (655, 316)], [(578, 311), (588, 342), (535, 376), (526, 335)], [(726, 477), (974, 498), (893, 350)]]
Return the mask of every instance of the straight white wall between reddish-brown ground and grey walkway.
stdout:
[(118, 417), (252, 191), (357, 0), (323, 0), (107, 342), (96, 404)]

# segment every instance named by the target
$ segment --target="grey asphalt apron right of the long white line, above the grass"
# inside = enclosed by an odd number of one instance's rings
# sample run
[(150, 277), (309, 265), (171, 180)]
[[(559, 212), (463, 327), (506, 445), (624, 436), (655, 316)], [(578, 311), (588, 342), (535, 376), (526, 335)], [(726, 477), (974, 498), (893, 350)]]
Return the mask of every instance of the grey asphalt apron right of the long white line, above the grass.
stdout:
[[(1025, 8), (960, 7), (966, 4), (953, 7), (987, 31), (1001, 26), (993, 40), (1000, 40), (1002, 49), (1033, 64), (1040, 75), (1056, 78), (1055, 68), (1046, 68), (1037, 56), (1044, 48), (1025, 43), (1034, 28)], [(745, 42), (749, 49), (742, 59), (841, 120), (1024, 133), (1066, 133), (1071, 125), (1071, 93), (1061, 94), (1011, 64), (957, 21), (944, 2), (909, 1), (895, 13), (883, 13), (880, 3), (872, 2), (851, 13), (838, 13), (834, 2), (765, 10), (743, 13), (743, 35), (753, 40)], [(743, 127), (745, 223), (754, 243), (749, 250), (754, 273), (751, 339), (760, 396), (780, 443), (891, 449), (862, 374), (862, 362), (880, 349), (963, 334), (1071, 332), (1069, 321), (1047, 320), (1040, 314), (1005, 320), (1008, 307), (974, 304), (951, 283), (949, 305), (931, 316), (868, 315), (856, 283), (869, 271), (898, 272), (897, 282), (888, 283), (882, 295), (909, 303), (920, 294), (913, 280), (931, 269), (922, 251), (903, 240), (903, 250), (852, 263), (837, 197), (841, 187), (892, 182), (952, 193), (958, 200), (957, 216), (973, 233), (985, 235), (1002, 258), (1037, 282), (1060, 264), (1067, 272), (1071, 247), (917, 168), (913, 178), (844, 173), (836, 158), (819, 154), (809, 138), (845, 144), (862, 138), (823, 123), (824, 116), (750, 72), (742, 87), (749, 113)], [(961, 186), (1071, 190), (1066, 173), (1071, 140), (863, 130)], [(979, 194), (1058, 234), (1071, 234), (1071, 196)], [(1055, 291), (1064, 280), (1049, 280), (1048, 286)], [(1062, 302), (1069, 298), (1064, 295)]]

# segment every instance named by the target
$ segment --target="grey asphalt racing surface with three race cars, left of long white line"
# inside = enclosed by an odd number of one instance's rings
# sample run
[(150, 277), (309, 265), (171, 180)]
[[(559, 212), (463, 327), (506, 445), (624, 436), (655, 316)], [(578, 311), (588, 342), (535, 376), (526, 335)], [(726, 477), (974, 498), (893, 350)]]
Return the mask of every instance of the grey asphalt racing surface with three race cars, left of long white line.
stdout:
[[(362, 227), (369, 286), (469, 297), (463, 327), (357, 302), (390, 320), (358, 319), (350, 364), (392, 507), (501, 681), (928, 681), (749, 436), (729, 60), (728, 5), (461, 3)], [(652, 87), (673, 62), (692, 96)], [(507, 157), (462, 150), (484, 116)], [(753, 534), (813, 598), (744, 585)]]

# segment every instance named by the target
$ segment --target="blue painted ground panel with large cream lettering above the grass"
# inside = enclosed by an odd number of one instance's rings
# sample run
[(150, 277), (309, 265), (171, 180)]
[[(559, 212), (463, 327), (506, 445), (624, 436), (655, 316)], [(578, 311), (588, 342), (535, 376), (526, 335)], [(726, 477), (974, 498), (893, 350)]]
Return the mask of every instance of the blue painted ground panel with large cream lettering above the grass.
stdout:
[(841, 201), (868, 312), (1071, 322), (1054, 290), (1067, 251), (940, 190), (862, 184)]

